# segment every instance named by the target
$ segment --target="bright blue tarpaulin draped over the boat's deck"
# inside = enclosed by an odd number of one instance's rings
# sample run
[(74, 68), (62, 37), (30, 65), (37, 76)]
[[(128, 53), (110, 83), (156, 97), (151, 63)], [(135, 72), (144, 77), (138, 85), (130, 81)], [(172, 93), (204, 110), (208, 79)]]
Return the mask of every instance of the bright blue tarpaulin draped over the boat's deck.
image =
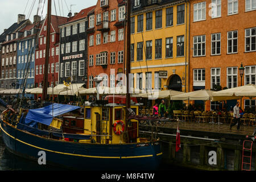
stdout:
[(39, 122), (49, 126), (51, 125), (53, 117), (80, 108), (79, 106), (54, 103), (39, 109), (30, 109), (28, 110), (25, 124), (30, 126), (30, 123)]

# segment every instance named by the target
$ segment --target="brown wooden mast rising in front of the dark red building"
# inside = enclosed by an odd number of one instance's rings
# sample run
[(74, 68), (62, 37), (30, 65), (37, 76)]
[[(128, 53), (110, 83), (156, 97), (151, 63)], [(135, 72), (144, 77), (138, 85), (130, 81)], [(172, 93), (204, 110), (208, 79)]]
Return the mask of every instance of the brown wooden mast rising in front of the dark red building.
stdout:
[(47, 88), (48, 88), (48, 64), (49, 64), (49, 40), (51, 32), (51, 7), (52, 0), (48, 0), (47, 7), (47, 31), (46, 31), (46, 61), (44, 63), (44, 80), (43, 80), (43, 98), (42, 101), (47, 100)]

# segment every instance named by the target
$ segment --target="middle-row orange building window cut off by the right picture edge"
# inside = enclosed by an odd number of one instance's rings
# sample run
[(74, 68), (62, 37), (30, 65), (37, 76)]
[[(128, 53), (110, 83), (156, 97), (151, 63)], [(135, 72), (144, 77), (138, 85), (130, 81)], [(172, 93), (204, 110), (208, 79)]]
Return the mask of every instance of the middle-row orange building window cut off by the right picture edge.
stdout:
[(256, 27), (245, 30), (245, 52), (256, 51)]

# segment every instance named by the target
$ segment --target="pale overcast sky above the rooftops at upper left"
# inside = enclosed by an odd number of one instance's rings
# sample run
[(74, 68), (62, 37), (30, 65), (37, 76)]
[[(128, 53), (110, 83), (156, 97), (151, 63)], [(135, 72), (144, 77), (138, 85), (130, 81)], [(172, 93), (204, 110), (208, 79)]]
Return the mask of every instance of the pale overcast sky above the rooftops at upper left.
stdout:
[[(41, 6), (39, 6), (39, 2), (42, 2)], [(0, 34), (5, 28), (9, 28), (17, 22), (18, 14), (26, 15), (26, 19), (28, 18), (33, 22), (34, 15), (37, 14), (40, 7), (38, 14), (45, 16), (47, 2), (47, 0), (0, 0)], [(82, 9), (94, 6), (96, 3), (97, 0), (52, 0), (52, 14), (67, 17), (70, 10), (72, 14), (79, 13)], [(33, 4), (34, 6), (32, 6)]]

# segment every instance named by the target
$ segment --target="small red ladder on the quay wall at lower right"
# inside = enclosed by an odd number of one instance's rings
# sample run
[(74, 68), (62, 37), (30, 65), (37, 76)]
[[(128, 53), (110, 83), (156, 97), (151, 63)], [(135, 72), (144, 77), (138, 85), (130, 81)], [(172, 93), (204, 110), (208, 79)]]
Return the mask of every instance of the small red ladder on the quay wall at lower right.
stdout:
[(252, 150), (252, 148), (253, 148), (253, 141), (250, 141), (250, 140), (243, 141), (242, 171), (251, 171), (251, 150)]

